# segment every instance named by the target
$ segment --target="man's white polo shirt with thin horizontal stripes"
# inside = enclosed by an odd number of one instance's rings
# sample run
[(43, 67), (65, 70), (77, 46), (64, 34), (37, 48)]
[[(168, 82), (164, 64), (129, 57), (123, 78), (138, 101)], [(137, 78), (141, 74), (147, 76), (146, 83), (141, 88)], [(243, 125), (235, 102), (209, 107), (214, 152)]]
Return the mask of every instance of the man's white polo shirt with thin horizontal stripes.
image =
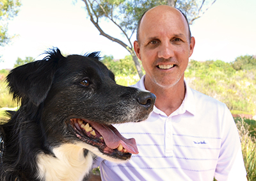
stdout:
[[(134, 87), (145, 90), (144, 77)], [(232, 114), (225, 104), (188, 85), (181, 106), (170, 116), (154, 106), (144, 122), (116, 129), (135, 138), (140, 153), (125, 164), (101, 160), (102, 180), (246, 180)]]

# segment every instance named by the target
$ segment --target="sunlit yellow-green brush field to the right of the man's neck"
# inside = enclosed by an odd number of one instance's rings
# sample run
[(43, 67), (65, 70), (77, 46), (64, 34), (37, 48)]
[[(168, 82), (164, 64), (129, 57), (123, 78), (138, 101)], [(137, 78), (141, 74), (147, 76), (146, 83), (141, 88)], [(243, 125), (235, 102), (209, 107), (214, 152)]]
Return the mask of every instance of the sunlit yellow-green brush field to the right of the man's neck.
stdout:
[(185, 72), (186, 81), (191, 88), (227, 104), (230, 111), (255, 114), (256, 70), (235, 70), (233, 64), (191, 60)]

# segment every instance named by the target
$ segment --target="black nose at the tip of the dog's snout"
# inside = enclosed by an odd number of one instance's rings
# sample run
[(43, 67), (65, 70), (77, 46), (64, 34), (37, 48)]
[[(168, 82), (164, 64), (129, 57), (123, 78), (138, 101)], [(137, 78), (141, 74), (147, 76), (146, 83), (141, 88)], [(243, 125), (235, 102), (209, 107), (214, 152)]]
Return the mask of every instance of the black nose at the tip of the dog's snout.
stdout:
[(156, 95), (150, 92), (141, 91), (137, 97), (138, 102), (146, 109), (153, 107), (156, 101)]

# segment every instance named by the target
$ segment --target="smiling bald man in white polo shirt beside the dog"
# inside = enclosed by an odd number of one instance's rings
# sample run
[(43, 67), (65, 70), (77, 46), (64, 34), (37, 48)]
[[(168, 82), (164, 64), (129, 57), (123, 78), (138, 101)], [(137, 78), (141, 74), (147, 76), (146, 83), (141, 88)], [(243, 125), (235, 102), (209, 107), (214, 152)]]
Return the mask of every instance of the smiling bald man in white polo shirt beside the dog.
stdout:
[(236, 124), (225, 104), (189, 88), (184, 71), (193, 53), (188, 20), (170, 6), (143, 15), (134, 51), (146, 75), (135, 85), (154, 93), (150, 117), (116, 128), (136, 139), (126, 164), (100, 162), (102, 180), (246, 180)]

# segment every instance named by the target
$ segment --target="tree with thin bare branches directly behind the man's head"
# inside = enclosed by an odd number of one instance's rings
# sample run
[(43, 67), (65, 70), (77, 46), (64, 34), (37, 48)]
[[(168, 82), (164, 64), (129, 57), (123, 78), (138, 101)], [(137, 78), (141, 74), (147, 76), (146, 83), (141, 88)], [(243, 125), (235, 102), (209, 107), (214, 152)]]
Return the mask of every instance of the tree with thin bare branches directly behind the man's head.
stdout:
[[(216, 0), (81, 0), (86, 5), (86, 11), (93, 25), (100, 35), (113, 42), (119, 43), (132, 56), (136, 70), (140, 77), (143, 72), (131, 42), (132, 35), (136, 33), (137, 23), (141, 15), (148, 9), (161, 4), (179, 8), (184, 12), (191, 24), (193, 20), (201, 17)], [(100, 20), (110, 20), (124, 35), (124, 40), (107, 34), (99, 25)]]

